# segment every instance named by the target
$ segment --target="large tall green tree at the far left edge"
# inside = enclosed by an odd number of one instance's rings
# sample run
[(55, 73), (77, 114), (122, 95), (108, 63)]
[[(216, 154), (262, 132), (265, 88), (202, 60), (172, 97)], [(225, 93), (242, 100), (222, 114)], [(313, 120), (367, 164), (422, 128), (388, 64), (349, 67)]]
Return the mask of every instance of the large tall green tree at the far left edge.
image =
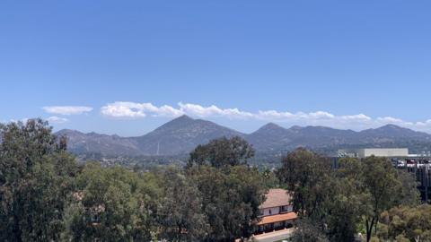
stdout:
[(0, 125), (0, 136), (0, 240), (58, 240), (75, 158), (40, 119)]

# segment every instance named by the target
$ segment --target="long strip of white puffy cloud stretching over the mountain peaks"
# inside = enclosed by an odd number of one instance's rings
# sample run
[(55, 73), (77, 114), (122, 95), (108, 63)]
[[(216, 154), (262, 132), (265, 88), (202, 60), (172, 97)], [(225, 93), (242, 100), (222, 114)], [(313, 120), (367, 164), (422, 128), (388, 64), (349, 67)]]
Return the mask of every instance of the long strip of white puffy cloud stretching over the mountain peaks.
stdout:
[(335, 115), (326, 111), (288, 112), (278, 110), (244, 111), (239, 108), (220, 108), (216, 105), (202, 106), (194, 103), (178, 103), (176, 107), (152, 103), (116, 101), (101, 108), (106, 117), (139, 118), (139, 117), (224, 117), (229, 119), (259, 120), (279, 122), (286, 125), (325, 125), (334, 128), (365, 129), (381, 125), (394, 124), (420, 131), (431, 131), (431, 119), (424, 122), (409, 122), (396, 117), (368, 117), (365, 114)]

